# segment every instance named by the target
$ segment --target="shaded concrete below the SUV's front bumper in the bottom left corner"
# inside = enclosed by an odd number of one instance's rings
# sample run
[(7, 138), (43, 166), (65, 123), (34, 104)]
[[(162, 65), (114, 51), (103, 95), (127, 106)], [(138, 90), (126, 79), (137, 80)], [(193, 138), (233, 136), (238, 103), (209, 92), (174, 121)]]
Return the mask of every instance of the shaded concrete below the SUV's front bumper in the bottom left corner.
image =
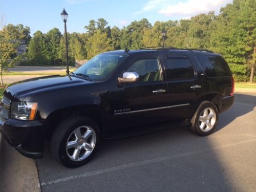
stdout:
[(20, 155), (1, 135), (0, 154), (0, 191), (41, 191), (35, 160)]

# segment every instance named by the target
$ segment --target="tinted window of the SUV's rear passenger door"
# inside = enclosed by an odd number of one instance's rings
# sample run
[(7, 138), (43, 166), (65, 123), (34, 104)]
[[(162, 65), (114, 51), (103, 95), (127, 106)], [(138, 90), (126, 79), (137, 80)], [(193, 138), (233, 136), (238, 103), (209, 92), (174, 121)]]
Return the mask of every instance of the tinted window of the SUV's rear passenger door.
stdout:
[(195, 72), (188, 58), (167, 58), (167, 78), (172, 79), (189, 79), (194, 78)]

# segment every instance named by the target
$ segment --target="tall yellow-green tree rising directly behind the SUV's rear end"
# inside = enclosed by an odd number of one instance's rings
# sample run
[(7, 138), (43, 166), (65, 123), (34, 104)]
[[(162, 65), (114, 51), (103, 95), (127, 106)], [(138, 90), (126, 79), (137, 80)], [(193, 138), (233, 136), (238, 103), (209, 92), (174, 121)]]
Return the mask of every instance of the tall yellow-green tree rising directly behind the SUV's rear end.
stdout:
[(221, 8), (220, 14), (211, 23), (209, 49), (223, 55), (237, 81), (246, 81), (246, 31), (238, 19), (239, 9), (234, 4)]

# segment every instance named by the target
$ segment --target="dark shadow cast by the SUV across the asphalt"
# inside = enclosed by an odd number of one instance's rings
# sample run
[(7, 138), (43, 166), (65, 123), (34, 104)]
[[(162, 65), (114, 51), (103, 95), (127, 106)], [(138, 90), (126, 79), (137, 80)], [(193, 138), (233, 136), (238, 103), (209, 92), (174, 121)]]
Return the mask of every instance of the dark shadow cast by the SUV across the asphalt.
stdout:
[[(81, 186), (88, 191), (239, 190), (240, 186), (231, 181), (232, 176), (213, 142), (224, 146), (234, 142), (236, 138), (222, 139), (222, 133), (229, 135), (232, 128), (229, 123), (251, 112), (255, 106), (256, 97), (235, 96), (233, 108), (221, 114), (216, 132), (207, 137), (196, 136), (186, 127), (179, 127), (126, 139), (102, 140), (93, 159), (74, 169), (54, 161), (47, 143), (45, 158), (37, 160), (40, 182), (67, 183), (43, 185), (42, 190), (84, 191)], [(225, 126), (228, 129), (223, 129)], [(218, 132), (221, 129), (223, 132)]]

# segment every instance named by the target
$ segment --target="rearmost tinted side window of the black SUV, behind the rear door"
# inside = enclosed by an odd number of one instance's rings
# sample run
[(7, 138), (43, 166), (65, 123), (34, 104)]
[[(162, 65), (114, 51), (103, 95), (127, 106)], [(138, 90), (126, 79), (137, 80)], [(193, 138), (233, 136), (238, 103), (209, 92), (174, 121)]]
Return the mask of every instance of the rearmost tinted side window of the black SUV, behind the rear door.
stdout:
[(196, 57), (208, 77), (231, 75), (228, 65), (220, 56), (197, 55)]

